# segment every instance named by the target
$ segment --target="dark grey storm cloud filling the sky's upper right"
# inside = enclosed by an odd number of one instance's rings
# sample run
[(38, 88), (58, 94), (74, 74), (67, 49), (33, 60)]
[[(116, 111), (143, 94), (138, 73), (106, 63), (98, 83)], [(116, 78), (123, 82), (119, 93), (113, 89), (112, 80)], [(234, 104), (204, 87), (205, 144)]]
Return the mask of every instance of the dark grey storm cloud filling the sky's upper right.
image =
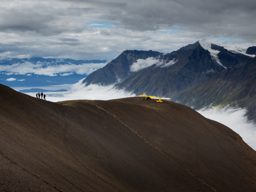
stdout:
[(242, 38), (253, 39), (256, 1), (134, 1), (124, 10), (105, 12), (103, 18), (115, 20), (126, 29), (133, 30), (159, 30), (164, 25), (181, 26), (207, 35), (241, 35)]

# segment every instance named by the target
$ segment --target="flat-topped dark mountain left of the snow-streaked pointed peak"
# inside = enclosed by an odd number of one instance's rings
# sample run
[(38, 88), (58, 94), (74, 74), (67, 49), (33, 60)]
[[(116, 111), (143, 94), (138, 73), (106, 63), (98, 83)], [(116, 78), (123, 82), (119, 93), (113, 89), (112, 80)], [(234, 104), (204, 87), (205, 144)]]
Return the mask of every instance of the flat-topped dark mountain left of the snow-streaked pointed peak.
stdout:
[(105, 67), (92, 72), (84, 79), (83, 83), (108, 85), (123, 80), (132, 72), (130, 66), (138, 59), (147, 59), (148, 57), (158, 58), (163, 53), (157, 51), (138, 51), (125, 50), (116, 59), (112, 60)]

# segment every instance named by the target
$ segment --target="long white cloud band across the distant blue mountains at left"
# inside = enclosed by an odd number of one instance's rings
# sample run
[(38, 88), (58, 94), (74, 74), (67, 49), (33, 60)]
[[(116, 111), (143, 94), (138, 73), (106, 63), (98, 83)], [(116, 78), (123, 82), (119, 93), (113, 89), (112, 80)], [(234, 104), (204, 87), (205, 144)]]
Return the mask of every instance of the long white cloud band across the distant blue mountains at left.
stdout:
[(72, 75), (74, 73), (79, 75), (89, 75), (91, 72), (96, 71), (99, 68), (102, 68), (107, 63), (85, 63), (85, 64), (63, 64), (63, 65), (52, 65), (50, 63), (40, 63), (36, 64), (25, 62), (25, 63), (16, 63), (12, 65), (0, 65), (0, 71), (5, 71), (6, 75), (19, 74), (31, 76), (31, 74), (36, 75), (48, 75), (48, 76), (57, 76), (57, 74)]

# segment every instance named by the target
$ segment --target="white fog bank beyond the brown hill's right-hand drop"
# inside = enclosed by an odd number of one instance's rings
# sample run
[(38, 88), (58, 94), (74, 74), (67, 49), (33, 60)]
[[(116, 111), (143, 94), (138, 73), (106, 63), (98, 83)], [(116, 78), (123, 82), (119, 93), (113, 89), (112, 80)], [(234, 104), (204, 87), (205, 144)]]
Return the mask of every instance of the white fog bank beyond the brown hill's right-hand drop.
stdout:
[(247, 121), (246, 109), (216, 108), (197, 110), (204, 117), (218, 121), (238, 133), (245, 143), (256, 150), (256, 125)]

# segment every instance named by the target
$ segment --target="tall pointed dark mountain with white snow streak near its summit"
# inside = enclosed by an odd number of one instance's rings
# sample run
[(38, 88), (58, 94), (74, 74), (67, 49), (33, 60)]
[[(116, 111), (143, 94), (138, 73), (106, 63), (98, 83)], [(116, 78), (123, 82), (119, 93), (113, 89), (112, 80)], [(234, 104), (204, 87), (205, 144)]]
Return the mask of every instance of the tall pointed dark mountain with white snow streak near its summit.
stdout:
[[(200, 42), (182, 47), (160, 57), (159, 63), (134, 72), (123, 82), (116, 84), (116, 87), (136, 94), (170, 97), (203, 83), (225, 68), (251, 58), (244, 54), (232, 53), (214, 44), (210, 44), (210, 48), (212, 52), (203, 48)], [(170, 62), (174, 64), (168, 65)]]

